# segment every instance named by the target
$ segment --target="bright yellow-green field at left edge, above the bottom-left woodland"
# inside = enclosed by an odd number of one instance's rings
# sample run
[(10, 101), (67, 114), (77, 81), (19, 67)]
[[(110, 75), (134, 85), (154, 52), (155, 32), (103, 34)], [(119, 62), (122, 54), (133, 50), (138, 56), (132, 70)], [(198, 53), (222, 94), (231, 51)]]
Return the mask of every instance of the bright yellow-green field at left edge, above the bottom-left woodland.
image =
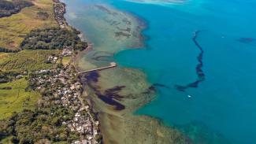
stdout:
[[(12, 89), (3, 90), (5, 87), (12, 87)], [(34, 109), (40, 94), (35, 91), (26, 91), (27, 87), (28, 81), (24, 78), (0, 84), (0, 120), (11, 116), (13, 112)]]

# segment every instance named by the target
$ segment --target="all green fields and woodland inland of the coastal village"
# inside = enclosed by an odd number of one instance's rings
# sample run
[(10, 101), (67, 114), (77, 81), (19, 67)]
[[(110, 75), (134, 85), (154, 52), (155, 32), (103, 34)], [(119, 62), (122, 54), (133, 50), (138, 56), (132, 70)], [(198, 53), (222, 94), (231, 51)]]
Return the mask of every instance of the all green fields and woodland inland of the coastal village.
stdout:
[[(55, 68), (46, 59), (59, 55), (60, 49), (83, 50), (87, 43), (72, 28), (46, 28), (58, 26), (52, 0), (33, 1), (35, 6), (26, 0), (0, 0), (0, 143), (71, 143), (79, 135), (62, 122), (74, 112), (54, 103), (49, 83), (44, 90), (34, 90), (28, 76), (31, 71)], [(23, 9), (26, 6), (31, 7)]]

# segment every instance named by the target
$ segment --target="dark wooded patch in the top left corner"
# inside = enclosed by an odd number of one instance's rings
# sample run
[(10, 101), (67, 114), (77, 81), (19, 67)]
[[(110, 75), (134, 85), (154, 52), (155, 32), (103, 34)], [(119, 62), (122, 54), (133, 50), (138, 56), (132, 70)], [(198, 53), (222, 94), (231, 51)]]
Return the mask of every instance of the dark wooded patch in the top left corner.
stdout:
[(21, 9), (28, 6), (33, 6), (33, 3), (25, 0), (13, 0), (12, 2), (0, 0), (0, 18), (19, 13)]

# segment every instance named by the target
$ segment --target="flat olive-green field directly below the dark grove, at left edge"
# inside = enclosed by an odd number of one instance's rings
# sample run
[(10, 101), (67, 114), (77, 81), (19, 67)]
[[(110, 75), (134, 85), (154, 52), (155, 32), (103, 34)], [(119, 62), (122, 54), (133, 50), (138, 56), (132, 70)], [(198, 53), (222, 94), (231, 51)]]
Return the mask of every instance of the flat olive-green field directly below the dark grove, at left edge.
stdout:
[(53, 68), (53, 64), (45, 61), (51, 54), (59, 50), (22, 50), (18, 53), (0, 53), (0, 69), (2, 71), (33, 71)]

